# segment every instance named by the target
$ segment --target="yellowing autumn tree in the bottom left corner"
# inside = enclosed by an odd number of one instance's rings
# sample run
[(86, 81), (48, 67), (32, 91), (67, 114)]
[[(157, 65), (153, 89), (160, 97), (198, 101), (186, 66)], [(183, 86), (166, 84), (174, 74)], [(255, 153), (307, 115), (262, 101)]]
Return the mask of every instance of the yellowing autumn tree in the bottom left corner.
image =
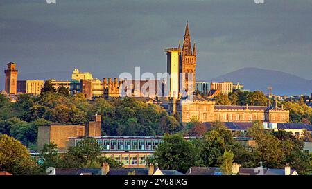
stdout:
[(0, 170), (11, 174), (39, 174), (27, 148), (6, 134), (0, 134)]

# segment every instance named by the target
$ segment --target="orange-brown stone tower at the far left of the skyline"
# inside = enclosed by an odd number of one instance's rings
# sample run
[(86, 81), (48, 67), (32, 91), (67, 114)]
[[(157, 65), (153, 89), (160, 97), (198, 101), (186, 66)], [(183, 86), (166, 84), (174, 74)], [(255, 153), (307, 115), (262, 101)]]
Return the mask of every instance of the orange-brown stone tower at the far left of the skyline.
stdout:
[(7, 64), (8, 69), (4, 71), (6, 73), (6, 93), (16, 94), (17, 93), (17, 74), (16, 64), (10, 62)]

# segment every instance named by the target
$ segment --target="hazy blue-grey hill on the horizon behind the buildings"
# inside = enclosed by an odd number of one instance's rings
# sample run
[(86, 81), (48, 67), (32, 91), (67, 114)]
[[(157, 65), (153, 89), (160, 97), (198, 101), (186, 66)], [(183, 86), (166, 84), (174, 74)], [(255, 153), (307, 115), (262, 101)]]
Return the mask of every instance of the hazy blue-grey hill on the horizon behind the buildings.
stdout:
[(306, 80), (290, 73), (257, 68), (244, 68), (217, 78), (205, 80), (207, 82), (232, 81), (245, 85), (251, 91), (260, 90), (268, 93), (267, 87), (272, 87), (273, 94), (296, 95), (312, 93), (312, 80)]

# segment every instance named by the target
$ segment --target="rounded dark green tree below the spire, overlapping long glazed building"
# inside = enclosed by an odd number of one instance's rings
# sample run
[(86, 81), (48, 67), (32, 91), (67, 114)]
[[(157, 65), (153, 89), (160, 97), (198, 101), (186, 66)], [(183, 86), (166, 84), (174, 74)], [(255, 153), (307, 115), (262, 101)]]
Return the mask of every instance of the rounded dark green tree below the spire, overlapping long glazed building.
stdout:
[(164, 143), (154, 153), (155, 162), (167, 170), (187, 172), (194, 164), (195, 148), (179, 134), (165, 134)]

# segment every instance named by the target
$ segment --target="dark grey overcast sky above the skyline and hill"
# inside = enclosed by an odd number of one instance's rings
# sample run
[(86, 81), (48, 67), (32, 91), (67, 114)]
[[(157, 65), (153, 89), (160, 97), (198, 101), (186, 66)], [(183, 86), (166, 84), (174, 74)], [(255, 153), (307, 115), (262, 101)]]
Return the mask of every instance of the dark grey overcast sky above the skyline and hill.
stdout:
[(244, 67), (311, 80), (312, 1), (264, 1), (0, 0), (0, 68), (165, 72), (163, 50), (183, 40), (189, 20), (198, 80)]

